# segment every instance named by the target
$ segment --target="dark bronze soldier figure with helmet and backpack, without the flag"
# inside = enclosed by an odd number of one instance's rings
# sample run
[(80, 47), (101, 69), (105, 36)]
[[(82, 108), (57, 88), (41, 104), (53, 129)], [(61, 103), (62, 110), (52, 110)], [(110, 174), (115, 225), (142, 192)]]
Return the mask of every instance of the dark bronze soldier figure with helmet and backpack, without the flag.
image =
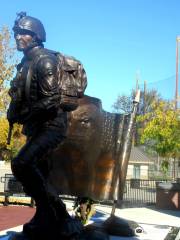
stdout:
[[(23, 124), (27, 142), (12, 159), (11, 167), (24, 191), (36, 202), (36, 214), (24, 224), (23, 233), (13, 239), (79, 239), (83, 226), (68, 214), (47, 182), (48, 169), (43, 159), (66, 138), (66, 110), (77, 107), (76, 99), (87, 85), (86, 74), (78, 61), (44, 48), (46, 33), (38, 19), (22, 12), (13, 31), (17, 49), (24, 57), (11, 82), (7, 118), (10, 126)], [(77, 75), (80, 84), (77, 81), (76, 86)]]

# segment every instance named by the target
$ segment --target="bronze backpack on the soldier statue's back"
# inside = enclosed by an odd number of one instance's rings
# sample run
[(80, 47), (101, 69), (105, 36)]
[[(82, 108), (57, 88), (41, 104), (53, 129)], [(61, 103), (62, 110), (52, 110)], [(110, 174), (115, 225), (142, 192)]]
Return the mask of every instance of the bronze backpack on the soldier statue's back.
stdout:
[(60, 106), (65, 111), (78, 107), (78, 98), (83, 97), (87, 86), (86, 72), (81, 62), (74, 57), (56, 54), (58, 58), (58, 82), (61, 93)]

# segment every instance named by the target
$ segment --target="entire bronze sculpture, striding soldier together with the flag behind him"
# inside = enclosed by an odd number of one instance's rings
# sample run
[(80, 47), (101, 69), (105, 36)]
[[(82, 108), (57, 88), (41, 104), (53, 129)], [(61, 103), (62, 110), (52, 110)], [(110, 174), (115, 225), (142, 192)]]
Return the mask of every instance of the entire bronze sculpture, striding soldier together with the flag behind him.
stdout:
[(83, 96), (81, 63), (44, 48), (38, 19), (20, 13), (13, 31), (24, 57), (9, 91), (8, 140), (20, 123), (27, 142), (12, 159), (12, 172), (35, 200), (36, 213), (12, 239), (108, 239), (86, 231), (59, 195), (122, 199), (137, 102), (127, 116), (103, 111), (99, 99)]

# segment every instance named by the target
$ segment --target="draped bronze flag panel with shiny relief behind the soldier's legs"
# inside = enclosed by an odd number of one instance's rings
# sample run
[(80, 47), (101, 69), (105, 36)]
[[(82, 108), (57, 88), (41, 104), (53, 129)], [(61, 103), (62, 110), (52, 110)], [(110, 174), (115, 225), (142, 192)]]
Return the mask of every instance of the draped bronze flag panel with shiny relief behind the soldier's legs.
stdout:
[(48, 156), (49, 181), (59, 194), (122, 199), (135, 113), (109, 113), (97, 98), (79, 99), (66, 140)]

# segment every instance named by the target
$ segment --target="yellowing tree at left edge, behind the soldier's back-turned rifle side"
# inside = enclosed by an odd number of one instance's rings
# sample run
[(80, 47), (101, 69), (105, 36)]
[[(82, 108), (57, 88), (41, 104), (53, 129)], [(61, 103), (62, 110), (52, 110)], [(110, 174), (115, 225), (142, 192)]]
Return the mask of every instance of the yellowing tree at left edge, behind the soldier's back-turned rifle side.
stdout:
[(6, 111), (9, 105), (9, 81), (13, 78), (15, 69), (14, 50), (11, 44), (11, 35), (7, 27), (0, 30), (0, 157), (1, 159), (11, 158), (24, 143), (20, 134), (21, 126), (15, 125), (10, 146), (7, 146), (8, 121)]

